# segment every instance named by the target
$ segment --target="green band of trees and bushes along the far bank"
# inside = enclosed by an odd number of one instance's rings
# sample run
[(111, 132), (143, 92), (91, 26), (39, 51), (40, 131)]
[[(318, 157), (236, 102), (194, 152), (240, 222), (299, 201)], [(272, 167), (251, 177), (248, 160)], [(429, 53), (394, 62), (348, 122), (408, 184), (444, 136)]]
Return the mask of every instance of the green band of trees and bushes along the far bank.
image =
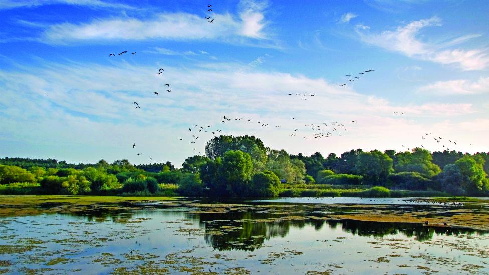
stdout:
[[(0, 192), (273, 197), (297, 194), (304, 185), (347, 185), (358, 190), (381, 186), (385, 190), (489, 194), (487, 153), (357, 149), (325, 158), (318, 152), (304, 156), (272, 150), (254, 136), (215, 137), (207, 142), (205, 153), (187, 158), (179, 169), (170, 162), (68, 164), (54, 159), (4, 158), (0, 159)], [(285, 190), (294, 188), (297, 190)], [(352, 194), (386, 193), (384, 189)]]

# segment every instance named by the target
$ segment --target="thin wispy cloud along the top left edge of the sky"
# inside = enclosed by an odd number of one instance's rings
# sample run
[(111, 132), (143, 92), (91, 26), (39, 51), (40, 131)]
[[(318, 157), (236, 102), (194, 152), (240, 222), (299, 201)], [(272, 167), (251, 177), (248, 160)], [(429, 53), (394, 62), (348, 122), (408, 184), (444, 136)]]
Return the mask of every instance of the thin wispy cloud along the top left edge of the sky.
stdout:
[(134, 7), (126, 4), (102, 0), (3, 0), (0, 2), (0, 9), (34, 8), (53, 4), (86, 6), (90, 8), (134, 9)]

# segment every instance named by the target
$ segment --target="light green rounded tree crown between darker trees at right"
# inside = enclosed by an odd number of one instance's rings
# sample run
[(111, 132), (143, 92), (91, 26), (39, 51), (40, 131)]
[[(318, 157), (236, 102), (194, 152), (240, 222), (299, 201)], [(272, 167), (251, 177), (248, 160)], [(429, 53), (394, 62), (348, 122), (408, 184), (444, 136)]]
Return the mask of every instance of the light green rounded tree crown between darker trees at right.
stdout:
[(426, 177), (432, 177), (441, 172), (440, 167), (432, 162), (431, 153), (422, 148), (415, 148), (412, 152), (399, 152), (396, 158), (397, 172), (418, 172)]

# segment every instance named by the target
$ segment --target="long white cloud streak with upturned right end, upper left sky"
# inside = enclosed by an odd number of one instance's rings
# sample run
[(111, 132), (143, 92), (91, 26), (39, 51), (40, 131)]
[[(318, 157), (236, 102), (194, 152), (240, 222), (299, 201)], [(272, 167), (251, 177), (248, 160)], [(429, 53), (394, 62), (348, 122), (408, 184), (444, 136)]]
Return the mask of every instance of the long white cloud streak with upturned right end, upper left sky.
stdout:
[[(121, 17), (89, 23), (62, 23), (47, 28), (40, 40), (49, 44), (107, 40), (203, 40), (233, 42), (243, 38), (265, 39), (263, 9), (266, 5), (246, 1), (238, 15), (212, 14), (213, 23), (190, 13), (161, 13), (150, 18)], [(240, 4), (244, 7), (244, 4)]]

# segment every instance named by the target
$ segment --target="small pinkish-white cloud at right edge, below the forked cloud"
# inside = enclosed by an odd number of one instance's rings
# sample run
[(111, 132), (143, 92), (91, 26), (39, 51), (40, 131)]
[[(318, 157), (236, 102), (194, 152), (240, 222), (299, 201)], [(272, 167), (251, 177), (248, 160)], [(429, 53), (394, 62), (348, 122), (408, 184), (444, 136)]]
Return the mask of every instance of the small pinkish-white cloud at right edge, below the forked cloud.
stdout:
[(489, 93), (489, 77), (481, 77), (478, 81), (467, 80), (437, 81), (420, 87), (418, 92), (432, 93), (437, 95), (472, 95)]

